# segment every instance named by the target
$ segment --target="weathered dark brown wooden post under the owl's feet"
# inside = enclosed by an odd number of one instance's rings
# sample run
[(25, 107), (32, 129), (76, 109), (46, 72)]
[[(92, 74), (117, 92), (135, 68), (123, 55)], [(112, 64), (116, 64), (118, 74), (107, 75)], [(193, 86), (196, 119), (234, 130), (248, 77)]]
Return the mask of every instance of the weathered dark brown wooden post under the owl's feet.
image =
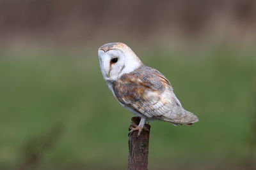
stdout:
[[(140, 117), (132, 117), (132, 123), (138, 125), (140, 123)], [(131, 131), (131, 126), (129, 131)], [(150, 125), (145, 124), (148, 132), (143, 130), (139, 137), (138, 131), (128, 134), (129, 136), (129, 158), (128, 158), (128, 170), (147, 170), (148, 169), (148, 141), (150, 134)]]

